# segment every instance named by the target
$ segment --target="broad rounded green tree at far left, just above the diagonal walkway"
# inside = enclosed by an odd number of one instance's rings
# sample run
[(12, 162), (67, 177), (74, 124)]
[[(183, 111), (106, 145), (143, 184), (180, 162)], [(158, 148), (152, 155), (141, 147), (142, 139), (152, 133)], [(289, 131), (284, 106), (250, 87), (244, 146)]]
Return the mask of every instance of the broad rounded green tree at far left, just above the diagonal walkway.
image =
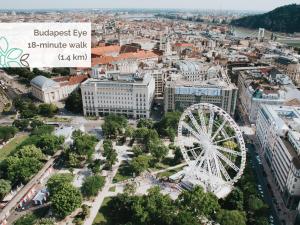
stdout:
[(42, 167), (36, 158), (10, 156), (5, 162), (7, 178), (13, 183), (27, 183)]

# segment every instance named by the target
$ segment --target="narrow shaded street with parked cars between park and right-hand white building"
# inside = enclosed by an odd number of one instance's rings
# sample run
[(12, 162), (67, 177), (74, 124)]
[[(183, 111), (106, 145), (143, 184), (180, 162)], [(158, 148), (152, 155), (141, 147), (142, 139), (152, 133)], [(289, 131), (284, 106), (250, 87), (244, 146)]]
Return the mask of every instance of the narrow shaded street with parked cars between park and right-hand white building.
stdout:
[(274, 203), (273, 203), (272, 194), (267, 185), (268, 181), (267, 181), (266, 177), (264, 176), (263, 167), (261, 164), (259, 164), (258, 159), (257, 159), (258, 154), (256, 153), (256, 149), (253, 144), (246, 144), (246, 147), (250, 154), (250, 159), (248, 159), (248, 160), (250, 162), (252, 169), (254, 170), (254, 174), (255, 174), (257, 183), (260, 184), (262, 187), (263, 198), (264, 198), (265, 202), (267, 203), (267, 205), (270, 207), (271, 215), (274, 218), (274, 224), (280, 225), (281, 222), (280, 222), (280, 219), (278, 218), (278, 215), (277, 215)]

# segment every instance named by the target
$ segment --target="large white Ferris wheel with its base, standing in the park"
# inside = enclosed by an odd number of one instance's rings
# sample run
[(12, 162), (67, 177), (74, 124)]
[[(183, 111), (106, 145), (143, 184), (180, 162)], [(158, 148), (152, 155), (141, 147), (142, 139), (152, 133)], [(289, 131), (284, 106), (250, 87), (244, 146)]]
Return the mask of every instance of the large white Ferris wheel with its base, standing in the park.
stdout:
[(225, 197), (243, 174), (246, 148), (242, 132), (223, 109), (195, 104), (181, 115), (178, 145), (188, 167), (188, 180)]

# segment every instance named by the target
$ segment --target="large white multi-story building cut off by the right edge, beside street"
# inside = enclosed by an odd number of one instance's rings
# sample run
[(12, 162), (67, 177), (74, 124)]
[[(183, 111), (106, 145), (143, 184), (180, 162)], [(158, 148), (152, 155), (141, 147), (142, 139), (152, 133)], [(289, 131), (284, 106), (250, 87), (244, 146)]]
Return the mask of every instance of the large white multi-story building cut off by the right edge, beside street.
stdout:
[(263, 105), (256, 136), (286, 206), (296, 209), (300, 200), (300, 108)]

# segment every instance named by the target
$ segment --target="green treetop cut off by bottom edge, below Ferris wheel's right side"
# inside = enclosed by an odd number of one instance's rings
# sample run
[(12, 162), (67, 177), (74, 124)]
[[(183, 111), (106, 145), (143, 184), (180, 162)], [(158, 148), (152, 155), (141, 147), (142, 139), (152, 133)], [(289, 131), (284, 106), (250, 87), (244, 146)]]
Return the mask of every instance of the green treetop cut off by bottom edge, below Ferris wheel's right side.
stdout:
[(246, 225), (246, 215), (238, 210), (220, 210), (216, 220), (221, 225)]

